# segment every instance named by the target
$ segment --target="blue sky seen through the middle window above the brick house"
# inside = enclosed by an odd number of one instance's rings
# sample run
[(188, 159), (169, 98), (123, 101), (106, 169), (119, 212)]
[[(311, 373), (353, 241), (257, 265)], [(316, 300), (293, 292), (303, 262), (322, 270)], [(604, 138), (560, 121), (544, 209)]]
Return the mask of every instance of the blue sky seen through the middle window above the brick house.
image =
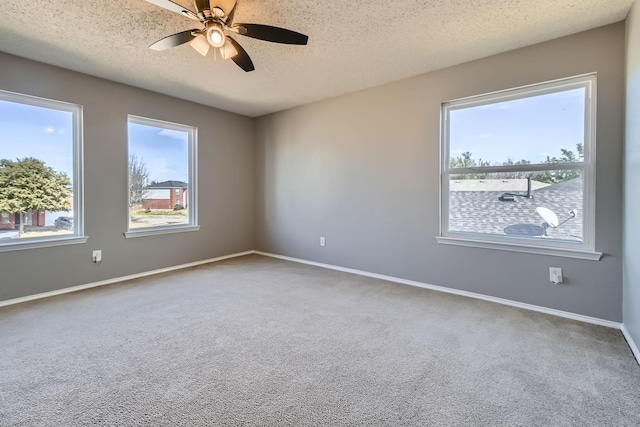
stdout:
[(189, 182), (189, 134), (129, 123), (129, 154), (147, 165), (150, 181)]

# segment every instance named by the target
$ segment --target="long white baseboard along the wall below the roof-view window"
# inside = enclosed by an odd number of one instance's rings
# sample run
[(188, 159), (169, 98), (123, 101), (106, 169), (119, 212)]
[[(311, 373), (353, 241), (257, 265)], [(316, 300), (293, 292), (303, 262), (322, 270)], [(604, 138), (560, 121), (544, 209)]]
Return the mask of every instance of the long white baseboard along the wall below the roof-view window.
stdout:
[[(622, 327), (621, 323), (612, 322), (610, 320), (598, 319), (597, 317), (584, 316), (582, 314), (570, 313), (568, 311), (555, 310), (553, 308), (540, 307), (538, 305), (525, 304), (525, 303), (522, 303), (522, 302), (511, 301), (511, 300), (508, 300), (508, 299), (503, 299), (503, 298), (497, 298), (497, 297), (477, 294), (477, 293), (474, 293), (474, 292), (461, 291), (461, 290), (458, 290), (458, 289), (446, 288), (444, 286), (429, 285), (427, 283), (416, 282), (416, 281), (413, 281), (413, 280), (406, 280), (406, 279), (400, 279), (400, 278), (392, 277), (392, 276), (385, 276), (385, 275), (382, 275), (382, 274), (369, 273), (367, 271), (355, 270), (353, 268), (339, 267), (339, 266), (331, 265), (331, 264), (322, 264), (322, 263), (319, 263), (319, 262), (307, 261), (307, 260), (298, 259), (298, 258), (292, 258), (292, 257), (288, 257), (288, 256), (283, 256), (283, 255), (276, 255), (276, 254), (272, 254), (272, 253), (268, 253), (268, 252), (254, 251), (254, 253), (256, 253), (258, 255), (268, 256), (268, 257), (271, 257), (271, 258), (278, 258), (278, 259), (283, 259), (283, 260), (286, 260), (286, 261), (293, 261), (293, 262), (297, 262), (297, 263), (301, 263), (301, 264), (315, 265), (317, 267), (328, 268), (330, 270), (343, 271), (345, 273), (352, 273), (352, 274), (357, 274), (357, 275), (360, 275), (360, 276), (366, 276), (366, 277), (372, 277), (372, 278), (375, 278), (375, 279), (386, 280), (386, 281), (389, 281), (389, 282), (401, 283), (403, 285), (416, 286), (416, 287), (419, 287), (419, 288), (431, 289), (431, 290), (439, 291), (439, 292), (446, 292), (448, 294), (460, 295), (460, 296), (464, 296), (464, 297), (469, 297), (469, 298), (475, 298), (475, 299), (480, 299), (480, 300), (484, 300), (484, 301), (495, 302), (495, 303), (498, 303), (498, 304), (509, 305), (511, 307), (523, 308), (525, 310), (537, 311), (537, 312), (540, 312), (540, 313), (551, 314), (553, 316), (564, 317), (566, 319), (578, 320), (580, 322), (585, 322), (585, 323), (592, 323), (594, 325), (606, 326), (606, 327), (614, 328), (614, 329), (621, 329), (621, 327)], [(636, 357), (637, 357), (637, 353), (636, 353)]]

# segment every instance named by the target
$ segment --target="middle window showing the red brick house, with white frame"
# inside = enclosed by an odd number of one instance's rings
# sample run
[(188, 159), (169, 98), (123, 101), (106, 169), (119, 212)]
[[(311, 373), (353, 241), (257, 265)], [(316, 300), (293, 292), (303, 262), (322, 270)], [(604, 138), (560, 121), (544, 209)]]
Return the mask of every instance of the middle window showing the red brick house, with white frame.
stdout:
[(196, 128), (129, 116), (126, 237), (197, 230)]

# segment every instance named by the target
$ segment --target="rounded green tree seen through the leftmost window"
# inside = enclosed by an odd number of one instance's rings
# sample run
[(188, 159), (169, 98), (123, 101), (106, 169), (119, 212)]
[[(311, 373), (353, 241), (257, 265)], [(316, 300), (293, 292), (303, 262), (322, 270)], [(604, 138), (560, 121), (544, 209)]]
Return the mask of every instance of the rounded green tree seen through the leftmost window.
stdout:
[(71, 209), (71, 179), (42, 160), (25, 157), (0, 160), (0, 211), (20, 214), (20, 231), (31, 210)]

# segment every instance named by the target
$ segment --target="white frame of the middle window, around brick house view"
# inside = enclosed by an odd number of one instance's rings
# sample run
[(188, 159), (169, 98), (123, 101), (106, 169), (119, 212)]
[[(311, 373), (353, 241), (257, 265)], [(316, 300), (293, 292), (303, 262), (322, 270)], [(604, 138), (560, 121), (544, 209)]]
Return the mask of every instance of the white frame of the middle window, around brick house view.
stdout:
[[(180, 123), (167, 122), (164, 120), (151, 119), (129, 114), (127, 116), (127, 134), (129, 124), (139, 124), (144, 126), (159, 127), (179, 132), (187, 132), (188, 139), (188, 167), (189, 167), (189, 223), (170, 225), (165, 227), (145, 227), (145, 228), (129, 228), (129, 201), (127, 200), (127, 231), (124, 233), (126, 238), (154, 236), (158, 234), (184, 233), (200, 230), (198, 224), (198, 128), (195, 126), (184, 125)], [(129, 159), (129, 138), (127, 138), (127, 161)], [(128, 170), (128, 168), (127, 168)], [(129, 197), (127, 177), (127, 199)]]

